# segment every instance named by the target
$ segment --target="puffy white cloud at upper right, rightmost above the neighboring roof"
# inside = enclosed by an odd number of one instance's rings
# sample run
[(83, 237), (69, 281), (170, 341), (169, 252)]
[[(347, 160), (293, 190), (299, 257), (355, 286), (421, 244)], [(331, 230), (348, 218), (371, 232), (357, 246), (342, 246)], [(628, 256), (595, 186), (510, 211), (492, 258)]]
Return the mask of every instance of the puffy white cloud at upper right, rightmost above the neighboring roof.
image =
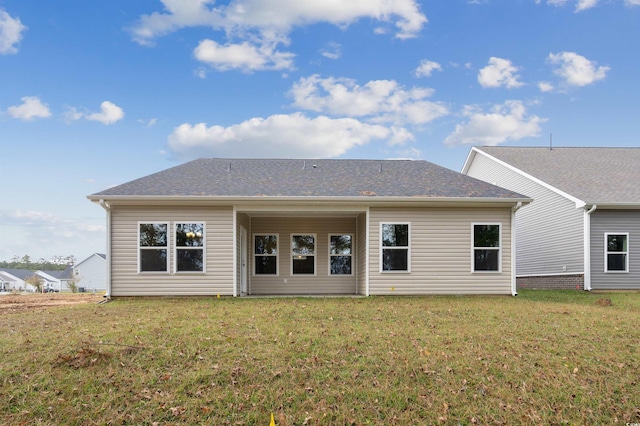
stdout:
[(598, 67), (595, 62), (575, 52), (550, 53), (548, 61), (553, 65), (559, 65), (554, 73), (562, 77), (569, 86), (582, 87), (593, 84), (604, 79), (611, 69), (607, 66)]

